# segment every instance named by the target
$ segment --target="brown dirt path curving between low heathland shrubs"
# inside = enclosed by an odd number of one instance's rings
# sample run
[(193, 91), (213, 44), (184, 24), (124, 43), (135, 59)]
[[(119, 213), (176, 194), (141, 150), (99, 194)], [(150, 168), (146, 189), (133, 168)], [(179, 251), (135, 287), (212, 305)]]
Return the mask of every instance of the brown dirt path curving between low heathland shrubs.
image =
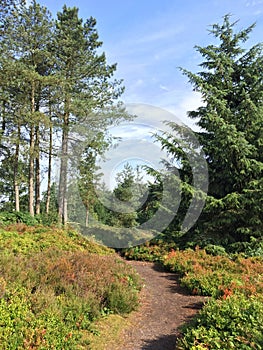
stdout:
[(118, 350), (175, 350), (178, 326), (198, 312), (203, 297), (189, 296), (176, 274), (153, 263), (130, 261), (144, 280), (140, 310), (131, 316)]

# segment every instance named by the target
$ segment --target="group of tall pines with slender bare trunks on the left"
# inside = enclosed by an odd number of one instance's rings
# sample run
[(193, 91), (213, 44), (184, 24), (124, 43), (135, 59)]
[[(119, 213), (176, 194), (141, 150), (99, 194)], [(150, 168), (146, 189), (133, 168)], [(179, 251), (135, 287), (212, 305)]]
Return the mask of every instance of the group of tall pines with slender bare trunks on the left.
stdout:
[[(47, 208), (41, 209), (57, 211), (59, 205), (61, 215), (68, 164), (62, 156), (60, 196), (54, 200), (51, 167), (58, 150), (53, 139), (61, 135), (66, 156), (69, 132), (82, 126), (79, 140), (84, 135), (91, 151), (101, 150), (106, 127), (127, 117), (121, 103), (115, 104), (122, 81), (114, 79), (117, 65), (107, 64), (100, 50), (96, 20), (79, 18), (76, 7), (65, 5), (56, 19), (35, 0), (6, 0), (0, 10), (0, 207), (39, 214), (41, 160), (48, 157), (42, 202)], [(92, 202), (87, 191), (85, 196), (84, 202)]]

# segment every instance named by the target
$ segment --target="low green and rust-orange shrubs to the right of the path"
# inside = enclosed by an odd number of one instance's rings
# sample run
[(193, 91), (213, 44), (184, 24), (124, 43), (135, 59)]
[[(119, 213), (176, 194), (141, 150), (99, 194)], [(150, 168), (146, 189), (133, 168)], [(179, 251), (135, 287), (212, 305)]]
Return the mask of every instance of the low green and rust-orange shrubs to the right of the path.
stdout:
[(176, 349), (262, 349), (262, 259), (188, 249), (171, 251), (163, 264), (193, 294), (212, 296), (181, 328)]

